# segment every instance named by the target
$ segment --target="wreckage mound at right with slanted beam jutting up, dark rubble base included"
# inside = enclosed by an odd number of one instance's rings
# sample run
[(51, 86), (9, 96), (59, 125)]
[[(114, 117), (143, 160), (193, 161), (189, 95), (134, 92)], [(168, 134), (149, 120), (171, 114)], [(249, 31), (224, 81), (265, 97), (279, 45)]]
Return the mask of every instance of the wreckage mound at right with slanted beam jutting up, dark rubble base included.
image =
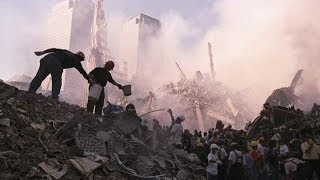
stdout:
[(292, 132), (315, 133), (320, 130), (320, 106), (316, 103), (310, 112), (303, 112), (297, 107), (303, 107), (300, 98), (295, 94), (295, 89), (301, 80), (303, 70), (295, 74), (291, 85), (276, 89), (268, 97), (260, 115), (247, 124), (248, 138), (264, 136), (271, 138), (280, 129)]

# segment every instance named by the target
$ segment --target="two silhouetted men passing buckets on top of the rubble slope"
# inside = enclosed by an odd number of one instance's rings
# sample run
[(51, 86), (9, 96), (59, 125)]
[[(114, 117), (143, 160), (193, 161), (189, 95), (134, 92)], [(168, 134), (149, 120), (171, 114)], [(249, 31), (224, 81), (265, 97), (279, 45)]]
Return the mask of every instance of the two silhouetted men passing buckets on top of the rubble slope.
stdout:
[[(100, 86), (105, 87), (107, 82), (110, 82), (119, 89), (122, 89), (122, 85), (114, 81), (110, 73), (115, 66), (113, 61), (108, 61), (104, 67), (97, 67), (87, 74), (81, 65), (81, 62), (85, 60), (85, 55), (81, 51), (73, 53), (65, 49), (51, 48), (44, 51), (35, 52), (35, 54), (37, 56), (46, 55), (41, 58), (38, 72), (30, 83), (29, 91), (31, 92), (36, 92), (41, 86), (42, 81), (49, 74), (51, 74), (51, 97), (53, 99), (58, 99), (62, 85), (63, 69), (68, 68), (76, 68), (82, 74), (82, 76), (88, 80), (88, 83), (90, 84), (89, 91), (93, 84), (99, 84)], [(92, 99), (88, 98), (87, 111), (93, 112), (95, 109), (95, 114), (102, 115), (104, 98), (105, 94), (103, 90), (101, 91), (97, 101), (93, 101)]]

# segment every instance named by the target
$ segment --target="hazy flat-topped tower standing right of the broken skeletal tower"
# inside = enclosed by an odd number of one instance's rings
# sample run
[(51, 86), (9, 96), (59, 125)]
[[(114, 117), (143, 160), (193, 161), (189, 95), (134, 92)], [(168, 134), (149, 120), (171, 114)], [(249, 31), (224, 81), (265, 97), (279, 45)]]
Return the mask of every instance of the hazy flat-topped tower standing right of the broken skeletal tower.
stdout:
[(158, 68), (156, 64), (161, 61), (161, 45), (157, 39), (159, 32), (160, 21), (143, 13), (123, 25), (119, 58), (127, 62), (129, 77), (147, 75), (147, 71)]

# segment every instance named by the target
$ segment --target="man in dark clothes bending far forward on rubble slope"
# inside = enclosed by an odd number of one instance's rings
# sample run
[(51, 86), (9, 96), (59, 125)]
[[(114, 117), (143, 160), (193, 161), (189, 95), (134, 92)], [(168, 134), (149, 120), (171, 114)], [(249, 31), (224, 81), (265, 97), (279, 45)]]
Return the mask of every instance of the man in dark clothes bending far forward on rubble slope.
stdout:
[[(47, 54), (49, 53), (49, 54)], [(29, 91), (36, 92), (41, 86), (42, 81), (51, 74), (52, 77), (52, 98), (58, 99), (61, 89), (61, 76), (63, 69), (76, 68), (84, 78), (90, 81), (90, 78), (81, 65), (84, 60), (84, 54), (79, 51), (74, 54), (68, 50), (51, 48), (45, 51), (35, 52), (37, 56), (47, 54), (40, 60), (40, 67), (30, 83)]]

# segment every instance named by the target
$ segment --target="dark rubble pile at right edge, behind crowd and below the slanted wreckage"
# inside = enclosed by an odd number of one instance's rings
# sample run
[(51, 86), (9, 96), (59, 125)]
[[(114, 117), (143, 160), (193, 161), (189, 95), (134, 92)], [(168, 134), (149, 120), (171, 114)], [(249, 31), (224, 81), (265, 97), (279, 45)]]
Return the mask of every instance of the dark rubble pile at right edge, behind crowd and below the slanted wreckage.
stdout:
[(256, 137), (271, 137), (282, 131), (300, 134), (304, 131), (317, 132), (320, 130), (320, 105), (314, 104), (310, 113), (304, 113), (294, 106), (289, 108), (264, 104), (260, 115), (246, 127), (248, 139)]

